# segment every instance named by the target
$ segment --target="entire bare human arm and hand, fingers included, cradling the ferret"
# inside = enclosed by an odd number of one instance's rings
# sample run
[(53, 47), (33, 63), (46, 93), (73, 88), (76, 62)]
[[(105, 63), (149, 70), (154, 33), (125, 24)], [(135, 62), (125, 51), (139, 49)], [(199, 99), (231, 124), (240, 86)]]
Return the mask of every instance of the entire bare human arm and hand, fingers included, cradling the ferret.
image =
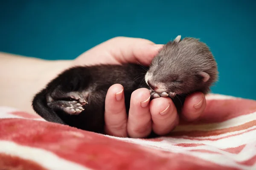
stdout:
[[(76, 65), (123, 64), (149, 65), (163, 45), (140, 38), (116, 37), (85, 51), (74, 60), (44, 60), (0, 53), (0, 102), (29, 113), (33, 96), (61, 71)], [(150, 101), (148, 89), (140, 88), (131, 96), (129, 114), (125, 111), (123, 87), (112, 85), (105, 100), (105, 132), (108, 135), (144, 138), (153, 130), (165, 135), (179, 120), (193, 121), (206, 107), (205, 96), (195, 93), (185, 100), (181, 116), (172, 100), (165, 97)]]

